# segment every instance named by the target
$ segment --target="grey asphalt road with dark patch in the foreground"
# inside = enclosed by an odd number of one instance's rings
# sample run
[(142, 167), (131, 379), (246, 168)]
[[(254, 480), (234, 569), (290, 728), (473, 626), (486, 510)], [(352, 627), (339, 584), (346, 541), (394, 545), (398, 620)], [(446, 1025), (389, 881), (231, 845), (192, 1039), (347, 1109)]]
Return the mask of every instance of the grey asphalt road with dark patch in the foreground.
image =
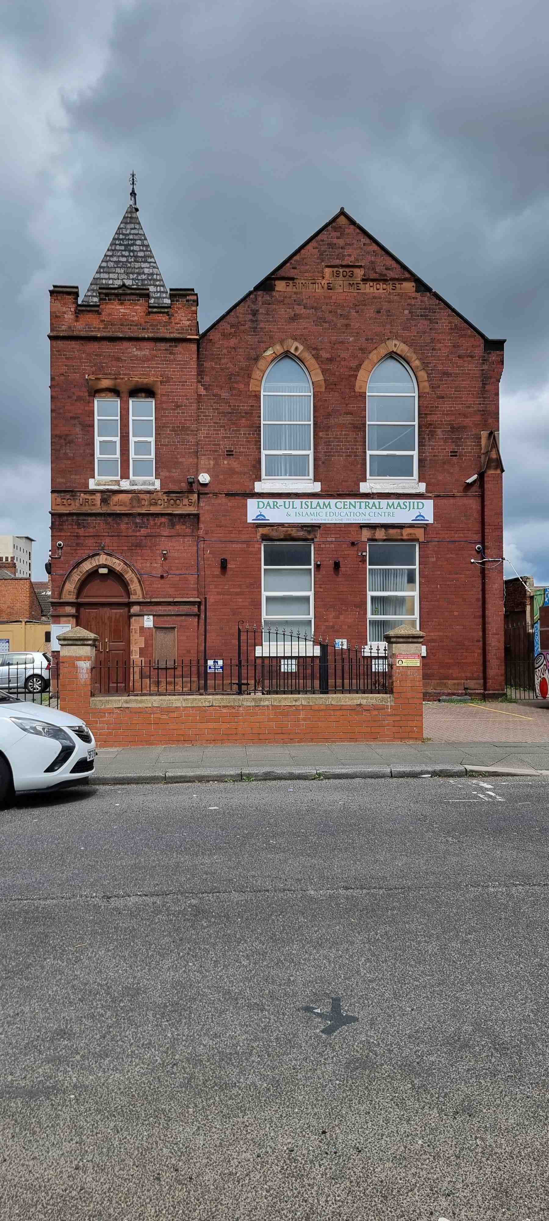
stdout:
[(548, 794), (1, 812), (2, 1221), (547, 1219)]

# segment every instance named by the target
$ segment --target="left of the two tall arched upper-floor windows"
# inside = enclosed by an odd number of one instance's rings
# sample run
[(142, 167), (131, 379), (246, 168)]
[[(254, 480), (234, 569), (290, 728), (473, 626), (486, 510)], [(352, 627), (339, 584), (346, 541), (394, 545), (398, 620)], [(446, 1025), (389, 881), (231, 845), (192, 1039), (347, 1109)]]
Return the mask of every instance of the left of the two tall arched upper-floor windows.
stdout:
[(262, 381), (261, 476), (312, 480), (312, 383), (293, 357), (273, 360)]

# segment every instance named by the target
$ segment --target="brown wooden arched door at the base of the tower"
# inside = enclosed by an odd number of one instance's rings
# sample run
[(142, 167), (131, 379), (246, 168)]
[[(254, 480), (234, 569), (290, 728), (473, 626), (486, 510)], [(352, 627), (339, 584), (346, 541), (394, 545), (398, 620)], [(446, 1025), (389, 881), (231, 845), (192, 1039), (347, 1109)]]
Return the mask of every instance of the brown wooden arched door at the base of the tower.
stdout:
[[(106, 567), (106, 565), (105, 565)], [(121, 695), (129, 680), (129, 590), (111, 568), (95, 569), (78, 589), (78, 625), (99, 636), (94, 690)]]

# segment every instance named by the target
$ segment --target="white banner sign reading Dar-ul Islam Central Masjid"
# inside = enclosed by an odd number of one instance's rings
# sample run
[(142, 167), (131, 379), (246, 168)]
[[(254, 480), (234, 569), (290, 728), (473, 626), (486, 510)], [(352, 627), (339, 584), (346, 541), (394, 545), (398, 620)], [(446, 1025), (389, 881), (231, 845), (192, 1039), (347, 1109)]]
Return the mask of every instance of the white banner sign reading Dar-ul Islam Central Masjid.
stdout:
[(432, 501), (403, 501), (395, 496), (390, 499), (365, 501), (362, 498), (322, 501), (265, 499), (248, 501), (248, 520), (261, 521), (316, 521), (318, 524), (359, 523), (375, 525), (388, 523), (404, 525), (409, 523), (427, 524), (433, 520)]

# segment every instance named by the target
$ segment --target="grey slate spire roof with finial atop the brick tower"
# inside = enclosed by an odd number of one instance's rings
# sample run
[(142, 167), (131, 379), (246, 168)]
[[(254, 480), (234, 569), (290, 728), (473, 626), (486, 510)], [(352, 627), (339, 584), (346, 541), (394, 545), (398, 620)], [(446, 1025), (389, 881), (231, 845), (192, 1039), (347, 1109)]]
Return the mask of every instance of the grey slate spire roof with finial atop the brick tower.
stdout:
[(84, 305), (99, 305), (100, 288), (148, 288), (150, 305), (161, 308), (170, 305), (170, 293), (138, 217), (134, 183), (132, 184), (131, 199), (132, 203), (128, 204), (92, 283), (82, 298)]

